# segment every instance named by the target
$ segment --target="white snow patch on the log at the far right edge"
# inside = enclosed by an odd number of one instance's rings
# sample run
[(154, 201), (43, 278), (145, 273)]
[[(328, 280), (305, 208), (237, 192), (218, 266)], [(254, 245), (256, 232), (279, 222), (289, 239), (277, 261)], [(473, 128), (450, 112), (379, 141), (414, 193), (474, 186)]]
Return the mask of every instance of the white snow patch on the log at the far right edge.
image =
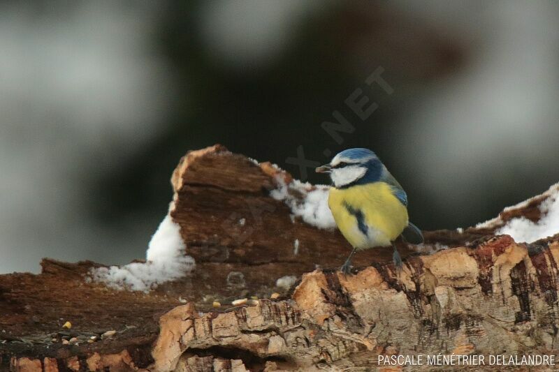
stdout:
[[(556, 235), (559, 232), (559, 184), (552, 186), (547, 193), (547, 199), (539, 204), (539, 210), (542, 212), (539, 221), (532, 222), (525, 217), (513, 218), (495, 234), (510, 235), (515, 241), (527, 243)], [(525, 207), (531, 200), (509, 207), (505, 211)]]

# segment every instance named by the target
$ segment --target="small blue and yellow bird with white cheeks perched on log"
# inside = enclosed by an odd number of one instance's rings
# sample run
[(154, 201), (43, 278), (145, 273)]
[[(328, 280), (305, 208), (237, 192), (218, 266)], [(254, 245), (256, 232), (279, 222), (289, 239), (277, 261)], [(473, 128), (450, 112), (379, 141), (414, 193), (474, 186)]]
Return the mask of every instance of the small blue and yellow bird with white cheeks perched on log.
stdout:
[(353, 247), (340, 271), (350, 273), (356, 251), (384, 246), (393, 247), (393, 262), (400, 271), (402, 258), (394, 241), (402, 236), (404, 241), (420, 244), (423, 235), (409, 222), (404, 189), (378, 156), (370, 149), (347, 149), (315, 171), (330, 174), (328, 207)]

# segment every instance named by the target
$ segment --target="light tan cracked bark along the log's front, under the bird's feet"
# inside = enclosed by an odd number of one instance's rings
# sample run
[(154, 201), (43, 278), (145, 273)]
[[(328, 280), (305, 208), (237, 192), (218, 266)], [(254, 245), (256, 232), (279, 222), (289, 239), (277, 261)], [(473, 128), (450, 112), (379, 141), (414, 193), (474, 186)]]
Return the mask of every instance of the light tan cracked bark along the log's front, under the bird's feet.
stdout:
[(161, 318), (155, 366), (219, 371), (231, 352), (266, 371), (370, 371), (379, 354), (555, 354), (558, 259), (556, 241), (501, 236), (410, 258), (398, 275), (386, 265), (312, 271), (281, 302), (202, 315), (180, 306)]

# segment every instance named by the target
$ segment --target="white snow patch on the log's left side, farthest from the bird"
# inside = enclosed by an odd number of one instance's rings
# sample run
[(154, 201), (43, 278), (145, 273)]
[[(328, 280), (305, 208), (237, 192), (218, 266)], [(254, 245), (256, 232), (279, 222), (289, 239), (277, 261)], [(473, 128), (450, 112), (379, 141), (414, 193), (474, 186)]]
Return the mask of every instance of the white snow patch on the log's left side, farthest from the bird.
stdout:
[(146, 262), (94, 268), (89, 274), (93, 281), (113, 289), (147, 292), (161, 283), (181, 278), (194, 268), (194, 258), (184, 254), (185, 248), (180, 226), (168, 214), (150, 241)]

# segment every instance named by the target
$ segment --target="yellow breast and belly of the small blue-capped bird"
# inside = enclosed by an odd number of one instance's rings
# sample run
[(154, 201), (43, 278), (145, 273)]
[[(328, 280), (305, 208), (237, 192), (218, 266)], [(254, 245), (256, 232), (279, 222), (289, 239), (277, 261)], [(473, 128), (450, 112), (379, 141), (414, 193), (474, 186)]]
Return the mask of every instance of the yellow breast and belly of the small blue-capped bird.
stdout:
[(342, 235), (358, 249), (391, 245), (408, 222), (405, 205), (384, 182), (331, 188), (328, 206)]

